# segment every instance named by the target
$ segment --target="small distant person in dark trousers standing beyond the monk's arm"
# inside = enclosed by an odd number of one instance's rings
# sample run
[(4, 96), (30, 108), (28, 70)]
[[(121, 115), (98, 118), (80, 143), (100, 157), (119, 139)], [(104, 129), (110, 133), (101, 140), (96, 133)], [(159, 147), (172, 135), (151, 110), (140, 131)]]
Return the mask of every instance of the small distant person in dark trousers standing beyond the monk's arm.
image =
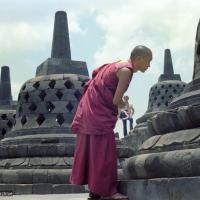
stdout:
[(123, 110), (121, 110), (120, 113), (120, 118), (122, 119), (123, 122), (123, 132), (124, 132), (124, 137), (128, 135), (127, 131), (127, 121), (130, 123), (130, 130), (133, 129), (133, 114), (134, 114), (134, 108), (132, 104), (129, 104), (129, 96), (124, 96), (123, 97), (125, 107)]

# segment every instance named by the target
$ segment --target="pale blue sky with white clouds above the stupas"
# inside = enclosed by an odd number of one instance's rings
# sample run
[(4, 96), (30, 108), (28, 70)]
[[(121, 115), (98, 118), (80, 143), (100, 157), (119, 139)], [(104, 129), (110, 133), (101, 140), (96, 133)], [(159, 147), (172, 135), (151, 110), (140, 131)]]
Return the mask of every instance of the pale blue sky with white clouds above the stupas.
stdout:
[[(163, 73), (164, 50), (170, 49), (174, 72), (192, 80), (197, 0), (0, 0), (0, 66), (9, 66), (12, 95), (34, 78), (51, 54), (54, 15), (66, 11), (73, 60), (86, 61), (89, 74), (98, 66), (128, 59), (136, 45), (153, 52), (151, 67), (134, 74), (127, 95), (135, 119), (147, 110), (149, 89)], [(122, 137), (122, 122), (115, 131)]]

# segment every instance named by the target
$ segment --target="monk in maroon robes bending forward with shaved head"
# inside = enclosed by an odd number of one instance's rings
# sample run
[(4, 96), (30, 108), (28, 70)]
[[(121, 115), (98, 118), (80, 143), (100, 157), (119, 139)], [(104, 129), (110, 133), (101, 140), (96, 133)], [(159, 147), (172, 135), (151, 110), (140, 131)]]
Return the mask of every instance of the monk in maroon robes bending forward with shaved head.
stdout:
[(113, 129), (118, 108), (134, 72), (150, 67), (152, 52), (136, 46), (126, 61), (104, 64), (92, 73), (84, 88), (72, 131), (77, 134), (74, 163), (70, 183), (86, 185), (90, 200), (128, 197), (117, 191), (117, 152)]

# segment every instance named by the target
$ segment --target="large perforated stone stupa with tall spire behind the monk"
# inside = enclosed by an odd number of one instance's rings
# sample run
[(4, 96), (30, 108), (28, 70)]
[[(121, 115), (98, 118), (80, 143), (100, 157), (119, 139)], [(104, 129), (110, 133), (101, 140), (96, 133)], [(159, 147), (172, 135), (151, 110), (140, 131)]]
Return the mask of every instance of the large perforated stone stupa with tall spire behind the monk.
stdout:
[[(81, 193), (69, 185), (75, 134), (71, 122), (89, 79), (85, 62), (71, 60), (67, 16), (55, 15), (51, 58), (18, 96), (16, 124), (0, 143), (0, 191), (14, 194)], [(119, 166), (133, 150), (118, 146)]]

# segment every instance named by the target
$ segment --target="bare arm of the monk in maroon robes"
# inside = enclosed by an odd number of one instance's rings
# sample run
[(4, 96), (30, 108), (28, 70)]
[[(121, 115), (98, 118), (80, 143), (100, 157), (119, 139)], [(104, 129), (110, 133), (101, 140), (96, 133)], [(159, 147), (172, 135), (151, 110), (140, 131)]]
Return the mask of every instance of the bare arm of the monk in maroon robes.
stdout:
[(117, 77), (119, 81), (113, 98), (113, 104), (121, 109), (125, 106), (125, 103), (122, 98), (124, 93), (128, 89), (132, 77), (132, 72), (130, 71), (130, 69), (124, 67), (117, 72)]

